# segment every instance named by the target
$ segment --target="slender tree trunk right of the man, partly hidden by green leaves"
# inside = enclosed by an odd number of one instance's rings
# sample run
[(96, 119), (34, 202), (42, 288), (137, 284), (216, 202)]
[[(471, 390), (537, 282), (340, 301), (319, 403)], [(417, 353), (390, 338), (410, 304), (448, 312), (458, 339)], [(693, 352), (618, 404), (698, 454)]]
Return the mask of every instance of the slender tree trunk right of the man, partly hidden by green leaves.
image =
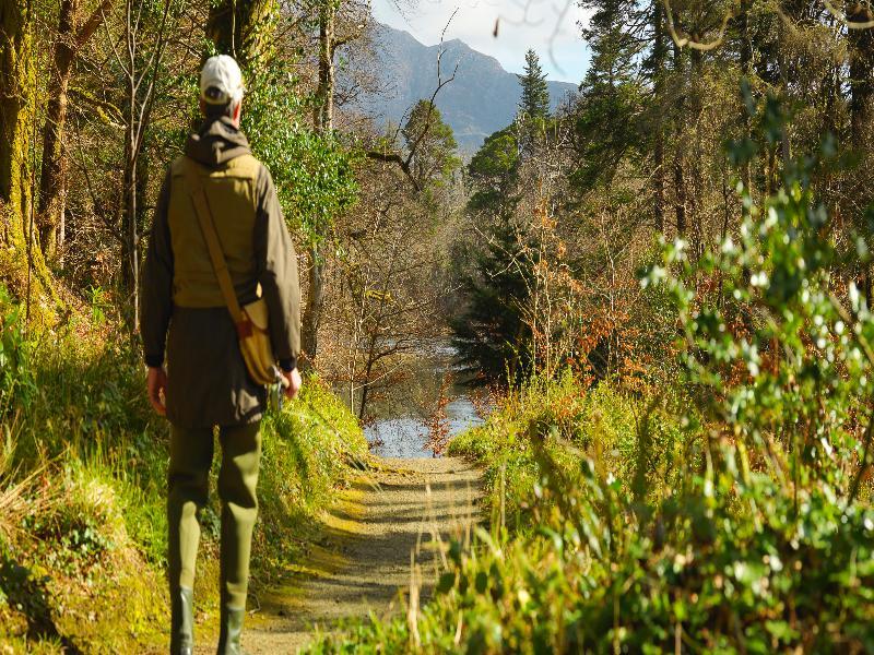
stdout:
[[(326, 134), (333, 130), (334, 98), (334, 19), (333, 0), (321, 0), (319, 7), (319, 86), (316, 91), (316, 107), (312, 123), (316, 132)], [(318, 228), (317, 228), (318, 229)], [(324, 235), (316, 235), (316, 239)], [(324, 305), (324, 258), (318, 241), (309, 249), (309, 287), (304, 311), (302, 347), (306, 360), (311, 364), (319, 348), (319, 322)]]

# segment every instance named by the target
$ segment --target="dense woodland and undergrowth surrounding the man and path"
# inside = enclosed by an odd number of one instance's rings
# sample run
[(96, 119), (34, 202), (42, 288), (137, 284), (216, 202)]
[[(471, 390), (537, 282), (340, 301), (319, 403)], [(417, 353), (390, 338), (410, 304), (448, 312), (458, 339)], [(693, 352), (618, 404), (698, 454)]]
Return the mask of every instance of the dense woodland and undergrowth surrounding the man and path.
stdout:
[(402, 124), (356, 109), (367, 3), (0, 2), (0, 640), (160, 634), (139, 274), (227, 52), (306, 273), (255, 588), (411, 358), (451, 338), (491, 398), (449, 444), (486, 471), (487, 528), (421, 612), (314, 652), (874, 651), (869, 2), (581, 0), (578, 92), (551, 112), (529, 50), (516, 120), (469, 157), (439, 59)]

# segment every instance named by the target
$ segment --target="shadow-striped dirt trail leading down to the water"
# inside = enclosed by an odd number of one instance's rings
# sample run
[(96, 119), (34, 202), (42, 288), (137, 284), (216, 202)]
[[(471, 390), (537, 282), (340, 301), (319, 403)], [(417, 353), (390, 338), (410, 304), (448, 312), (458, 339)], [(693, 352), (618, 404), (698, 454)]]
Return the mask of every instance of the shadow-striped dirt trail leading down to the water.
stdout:
[(304, 571), (260, 598), (261, 610), (247, 618), (246, 653), (296, 653), (311, 639), (314, 624), (327, 631), (370, 610), (398, 611), (399, 591), (409, 593), (414, 551), (427, 594), (438, 557), (433, 535), (463, 535), (477, 521), (480, 472), (453, 457), (379, 462), (340, 493)]

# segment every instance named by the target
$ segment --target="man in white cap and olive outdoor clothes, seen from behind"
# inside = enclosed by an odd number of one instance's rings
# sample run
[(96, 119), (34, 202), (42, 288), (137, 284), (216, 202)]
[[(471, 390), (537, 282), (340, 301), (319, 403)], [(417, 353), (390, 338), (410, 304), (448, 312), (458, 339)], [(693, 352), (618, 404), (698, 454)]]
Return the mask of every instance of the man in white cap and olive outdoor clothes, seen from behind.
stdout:
[[(239, 67), (231, 57), (212, 57), (203, 66), (200, 106), (205, 120), (164, 180), (143, 272), (140, 330), (149, 400), (170, 422), (167, 520), (174, 655), (193, 652), (199, 516), (209, 496), (215, 426), (222, 448), (218, 653), (240, 653), (258, 512), (259, 427), (267, 402), (265, 388), (247, 372), (192, 186), (205, 193), (239, 303), (259, 296), (267, 302), (270, 342), (287, 384), (286, 396), (294, 397), (300, 388), (297, 260), (270, 171), (252, 157), (239, 130), (243, 91)], [(193, 174), (197, 177), (187, 177)]]

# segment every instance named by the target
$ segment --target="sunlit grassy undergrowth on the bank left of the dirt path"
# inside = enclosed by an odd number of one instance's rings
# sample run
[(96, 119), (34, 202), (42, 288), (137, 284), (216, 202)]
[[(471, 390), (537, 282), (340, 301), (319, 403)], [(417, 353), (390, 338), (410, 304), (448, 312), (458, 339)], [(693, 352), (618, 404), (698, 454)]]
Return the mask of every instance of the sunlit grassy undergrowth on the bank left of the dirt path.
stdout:
[[(85, 310), (27, 333), (0, 287), (0, 643), (13, 652), (163, 650), (169, 430), (117, 327)], [(316, 378), (262, 432), (256, 593), (291, 568), (331, 489), (367, 452), (356, 419)], [(201, 618), (217, 607), (216, 475), (217, 462), (202, 516)]]

